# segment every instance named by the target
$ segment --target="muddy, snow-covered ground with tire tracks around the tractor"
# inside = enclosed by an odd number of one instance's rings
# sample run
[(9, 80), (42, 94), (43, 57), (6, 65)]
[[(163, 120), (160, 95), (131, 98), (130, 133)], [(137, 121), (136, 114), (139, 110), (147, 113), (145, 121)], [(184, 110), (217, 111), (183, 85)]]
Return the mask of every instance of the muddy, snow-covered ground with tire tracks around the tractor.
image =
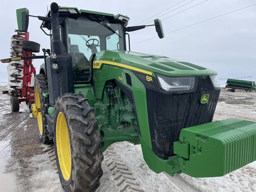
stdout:
[[(0, 92), (3, 89), (3, 86), (0, 87)], [(22, 103), (20, 112), (11, 113), (9, 100), (9, 96), (0, 95), (0, 191), (63, 192), (53, 146), (40, 143), (36, 119), (31, 117), (26, 105)], [(230, 117), (256, 121), (256, 93), (244, 91), (232, 93), (222, 90), (214, 120)], [(127, 146), (130, 149), (126, 149)], [(203, 192), (215, 191), (222, 182), (213, 184), (208, 180), (194, 180), (193, 182), (196, 181), (198, 184), (193, 184), (188, 181), (192, 180), (188, 176), (170, 177), (164, 173), (156, 174), (145, 164), (140, 146), (128, 143), (110, 146), (104, 152), (102, 167), (104, 176), (98, 192)], [(238, 191), (256, 191), (255, 174), (253, 173), (250, 178), (245, 184), (235, 181), (237, 185), (234, 185), (229, 175), (227, 181), (224, 181), (227, 186), (225, 191), (237, 191), (236, 188), (244, 189)], [(208, 186), (210, 190), (205, 190), (201, 185)], [(234, 186), (236, 188), (232, 188)]]

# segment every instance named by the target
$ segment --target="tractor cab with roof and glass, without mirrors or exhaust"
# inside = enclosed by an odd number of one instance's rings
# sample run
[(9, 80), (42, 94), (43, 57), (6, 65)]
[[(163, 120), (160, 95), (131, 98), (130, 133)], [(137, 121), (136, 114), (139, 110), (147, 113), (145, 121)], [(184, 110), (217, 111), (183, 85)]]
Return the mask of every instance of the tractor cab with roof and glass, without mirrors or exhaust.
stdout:
[[(47, 17), (51, 17), (50, 12)], [(72, 55), (75, 84), (92, 79), (90, 61), (94, 54), (103, 50), (126, 50), (125, 28), (129, 20), (126, 16), (60, 7), (59, 18), (63, 52)], [(43, 21), (41, 28), (52, 29), (47, 21)]]

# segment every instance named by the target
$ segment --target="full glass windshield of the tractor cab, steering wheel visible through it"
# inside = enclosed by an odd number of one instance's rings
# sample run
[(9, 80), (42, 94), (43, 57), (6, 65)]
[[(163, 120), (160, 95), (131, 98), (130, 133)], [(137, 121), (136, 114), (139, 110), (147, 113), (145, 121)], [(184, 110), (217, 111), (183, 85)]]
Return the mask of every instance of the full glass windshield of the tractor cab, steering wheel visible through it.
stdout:
[(75, 82), (91, 80), (89, 59), (92, 54), (125, 48), (124, 25), (120, 23), (68, 18), (66, 29)]

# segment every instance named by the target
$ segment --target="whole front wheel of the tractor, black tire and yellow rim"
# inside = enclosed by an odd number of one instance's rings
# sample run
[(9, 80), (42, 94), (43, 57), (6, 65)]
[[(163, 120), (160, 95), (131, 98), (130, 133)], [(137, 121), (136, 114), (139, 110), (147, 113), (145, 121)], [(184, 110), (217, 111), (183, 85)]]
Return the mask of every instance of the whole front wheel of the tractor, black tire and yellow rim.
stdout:
[(95, 192), (103, 175), (101, 139), (94, 109), (81, 94), (66, 93), (54, 107), (54, 145), (65, 192)]

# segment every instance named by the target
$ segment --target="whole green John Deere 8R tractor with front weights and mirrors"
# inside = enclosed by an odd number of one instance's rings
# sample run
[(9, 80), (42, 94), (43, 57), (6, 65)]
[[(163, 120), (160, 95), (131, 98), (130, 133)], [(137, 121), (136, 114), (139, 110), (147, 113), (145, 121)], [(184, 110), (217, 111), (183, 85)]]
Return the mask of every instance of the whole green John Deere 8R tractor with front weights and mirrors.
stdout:
[[(127, 50), (128, 32), (145, 25), (56, 3), (37, 17), (51, 49), (44, 49), (32, 108), (40, 139), (54, 142), (66, 192), (96, 191), (102, 152), (120, 141), (141, 144), (149, 168), (171, 176), (223, 176), (256, 160), (255, 122), (211, 122), (220, 95), (215, 71)], [(18, 9), (17, 18), (26, 32), (28, 10)], [(163, 38), (161, 21), (152, 25)]]

